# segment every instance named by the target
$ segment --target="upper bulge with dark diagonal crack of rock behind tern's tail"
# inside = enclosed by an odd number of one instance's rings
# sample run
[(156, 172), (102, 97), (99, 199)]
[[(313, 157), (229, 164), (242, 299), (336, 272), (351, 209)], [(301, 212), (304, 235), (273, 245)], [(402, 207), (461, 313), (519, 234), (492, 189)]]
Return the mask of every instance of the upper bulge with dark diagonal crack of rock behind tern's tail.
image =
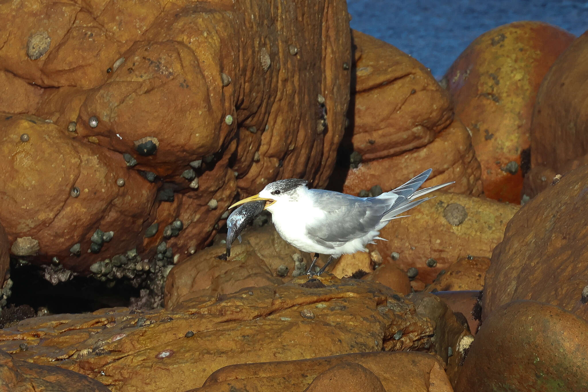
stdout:
[(352, 33), (360, 52), (352, 87), (353, 149), (368, 161), (432, 142), (453, 119), (447, 92), (416, 59), (372, 36)]

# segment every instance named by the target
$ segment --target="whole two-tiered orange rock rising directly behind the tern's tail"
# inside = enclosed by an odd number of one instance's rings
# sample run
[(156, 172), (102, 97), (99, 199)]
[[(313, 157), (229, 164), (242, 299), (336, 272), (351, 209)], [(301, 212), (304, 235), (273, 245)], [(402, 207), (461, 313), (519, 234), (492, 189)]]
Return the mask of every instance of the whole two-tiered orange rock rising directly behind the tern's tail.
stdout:
[(341, 148), (353, 168), (339, 167), (332, 185), (353, 195), (375, 185), (387, 191), (433, 167), (427, 185), (455, 180), (453, 192), (479, 195), (479, 163), (445, 89), (394, 46), (357, 31), (353, 43), (352, 135)]

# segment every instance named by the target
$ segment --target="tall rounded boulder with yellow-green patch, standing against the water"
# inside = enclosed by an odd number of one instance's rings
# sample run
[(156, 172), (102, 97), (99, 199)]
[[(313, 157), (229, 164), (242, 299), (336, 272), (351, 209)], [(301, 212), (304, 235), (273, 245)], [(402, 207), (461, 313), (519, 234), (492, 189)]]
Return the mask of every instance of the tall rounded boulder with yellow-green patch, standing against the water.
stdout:
[(443, 77), (472, 133), (490, 199), (520, 203), (537, 90), (573, 39), (543, 22), (513, 22), (476, 38)]

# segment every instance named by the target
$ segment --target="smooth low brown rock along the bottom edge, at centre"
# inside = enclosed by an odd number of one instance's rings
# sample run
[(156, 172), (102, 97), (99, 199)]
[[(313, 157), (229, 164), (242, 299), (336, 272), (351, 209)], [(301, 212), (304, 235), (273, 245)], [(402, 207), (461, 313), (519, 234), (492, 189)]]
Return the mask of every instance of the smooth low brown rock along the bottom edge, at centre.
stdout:
[[(346, 384), (341, 384), (343, 380)], [(364, 388), (354, 389), (360, 386)], [(373, 388), (368, 389), (368, 386)], [(453, 391), (443, 366), (435, 357), (423, 353), (380, 352), (227, 366), (211, 374), (201, 388), (189, 392), (231, 390)]]

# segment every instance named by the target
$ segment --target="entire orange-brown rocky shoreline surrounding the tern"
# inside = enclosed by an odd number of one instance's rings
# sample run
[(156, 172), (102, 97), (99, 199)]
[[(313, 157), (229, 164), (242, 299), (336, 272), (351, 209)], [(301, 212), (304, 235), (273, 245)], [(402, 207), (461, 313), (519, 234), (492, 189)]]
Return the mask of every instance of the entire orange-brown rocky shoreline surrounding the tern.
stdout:
[[(1, 390), (588, 390), (585, 34), (500, 26), (439, 83), (342, 0), (0, 19)], [(219, 257), (269, 182), (429, 167), (455, 184), (320, 277), (268, 215)]]

